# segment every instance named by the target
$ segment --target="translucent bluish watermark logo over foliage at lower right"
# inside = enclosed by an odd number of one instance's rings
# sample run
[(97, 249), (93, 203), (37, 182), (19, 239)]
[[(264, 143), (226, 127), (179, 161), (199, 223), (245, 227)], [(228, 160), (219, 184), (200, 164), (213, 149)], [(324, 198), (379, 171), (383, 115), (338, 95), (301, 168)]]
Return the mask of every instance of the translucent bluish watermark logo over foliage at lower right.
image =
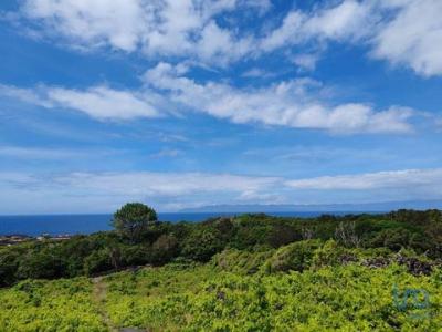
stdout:
[(430, 294), (420, 288), (406, 288), (399, 290), (393, 284), (392, 290), (393, 305), (402, 312), (407, 312), (410, 318), (424, 319), (429, 317)]

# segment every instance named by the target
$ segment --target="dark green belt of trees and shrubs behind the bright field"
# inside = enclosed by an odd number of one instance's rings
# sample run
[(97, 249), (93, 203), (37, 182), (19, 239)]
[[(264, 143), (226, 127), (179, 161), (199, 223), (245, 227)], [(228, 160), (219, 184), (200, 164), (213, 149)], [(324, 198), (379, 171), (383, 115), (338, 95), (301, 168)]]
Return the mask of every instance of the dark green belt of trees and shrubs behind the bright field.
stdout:
[[(442, 259), (442, 214), (438, 210), (325, 215), (317, 218), (277, 218), (260, 214), (171, 224), (154, 221), (154, 210), (129, 204), (116, 216), (115, 220), (129, 220), (127, 225), (133, 226), (128, 229), (133, 230), (125, 230), (123, 226), (126, 224), (123, 222), (118, 231), (75, 236), (65, 241), (46, 239), (0, 247), (0, 286), (11, 286), (28, 278), (73, 278), (103, 274), (134, 266), (161, 266), (179, 257), (207, 262), (225, 249), (255, 252), (307, 239), (336, 240), (350, 251), (358, 248), (387, 248), (398, 252), (406, 248), (419, 255), (425, 253), (431, 259)], [(298, 267), (295, 270), (302, 270), (313, 258), (309, 257), (312, 252), (302, 248), (305, 245), (294, 245), (297, 246), (301, 246), (297, 255), (305, 257), (296, 259), (306, 261), (296, 263)], [(304, 249), (307, 251), (304, 252)], [(325, 250), (325, 256), (317, 256), (316, 259), (343, 261), (340, 257), (332, 257), (330, 250)], [(278, 255), (274, 263), (277, 260), (283, 262), (288, 257), (295, 259), (294, 252)], [(280, 268), (284, 269), (283, 266)]]

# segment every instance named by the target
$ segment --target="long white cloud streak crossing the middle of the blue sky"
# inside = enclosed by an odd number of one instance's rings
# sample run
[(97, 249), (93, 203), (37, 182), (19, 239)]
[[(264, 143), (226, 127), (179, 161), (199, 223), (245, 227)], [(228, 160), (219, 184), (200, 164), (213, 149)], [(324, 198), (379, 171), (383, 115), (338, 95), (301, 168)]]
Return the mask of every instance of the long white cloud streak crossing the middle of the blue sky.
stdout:
[(345, 134), (412, 131), (408, 121), (415, 115), (413, 110), (392, 106), (376, 111), (361, 103), (328, 105), (320, 101), (320, 83), (309, 79), (283, 81), (260, 89), (238, 89), (225, 83), (197, 83), (181, 75), (183, 72), (181, 66), (159, 63), (147, 71), (144, 76), (147, 86), (140, 91), (106, 86), (82, 91), (39, 86), (32, 91), (3, 86), (3, 93), (44, 107), (86, 113), (97, 120), (158, 117), (193, 111), (233, 123)]

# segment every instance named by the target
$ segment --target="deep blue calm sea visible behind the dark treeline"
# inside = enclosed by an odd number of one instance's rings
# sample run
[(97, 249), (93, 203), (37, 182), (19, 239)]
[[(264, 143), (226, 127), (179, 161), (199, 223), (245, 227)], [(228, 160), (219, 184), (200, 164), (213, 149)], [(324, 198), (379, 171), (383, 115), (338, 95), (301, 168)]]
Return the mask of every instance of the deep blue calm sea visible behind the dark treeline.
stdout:
[[(269, 212), (281, 217), (315, 217), (324, 212)], [(345, 212), (334, 212), (343, 215)], [(210, 217), (234, 216), (240, 214), (158, 214), (162, 221), (202, 221)], [(0, 235), (74, 235), (110, 230), (112, 215), (48, 215), (48, 216), (0, 216)]]

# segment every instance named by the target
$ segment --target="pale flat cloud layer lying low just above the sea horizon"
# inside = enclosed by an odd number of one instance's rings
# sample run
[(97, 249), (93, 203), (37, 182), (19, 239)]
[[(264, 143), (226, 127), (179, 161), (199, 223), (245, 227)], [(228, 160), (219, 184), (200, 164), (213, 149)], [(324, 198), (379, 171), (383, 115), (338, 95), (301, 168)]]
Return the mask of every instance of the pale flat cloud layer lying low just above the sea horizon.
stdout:
[[(165, 211), (221, 204), (337, 204), (442, 197), (442, 169), (404, 169), (290, 179), (213, 173), (0, 173), (0, 210), (113, 211), (145, 201)], [(312, 196), (312, 191), (314, 193)], [(343, 195), (343, 193), (345, 195)], [(25, 206), (23, 201), (32, 201)]]

